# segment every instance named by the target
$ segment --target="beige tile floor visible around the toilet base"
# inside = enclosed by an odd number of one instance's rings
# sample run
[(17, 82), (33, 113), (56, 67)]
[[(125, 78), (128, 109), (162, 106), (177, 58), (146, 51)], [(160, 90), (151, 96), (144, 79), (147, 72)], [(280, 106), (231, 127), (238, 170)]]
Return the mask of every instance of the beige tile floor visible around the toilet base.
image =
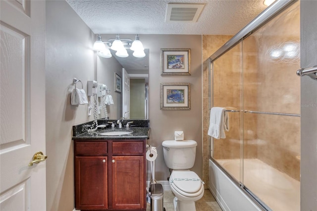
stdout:
[[(172, 191), (164, 191), (164, 208), (166, 211), (174, 211)], [(196, 203), (196, 211), (222, 211), (216, 200), (211, 195), (210, 190), (205, 190), (203, 198)], [(147, 211), (151, 211), (151, 205), (148, 203)]]

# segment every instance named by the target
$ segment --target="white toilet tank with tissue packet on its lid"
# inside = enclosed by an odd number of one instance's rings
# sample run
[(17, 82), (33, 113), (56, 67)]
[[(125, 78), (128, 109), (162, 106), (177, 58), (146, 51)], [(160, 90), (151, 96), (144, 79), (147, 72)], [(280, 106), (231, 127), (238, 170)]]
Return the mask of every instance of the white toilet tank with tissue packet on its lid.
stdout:
[(197, 142), (166, 140), (162, 142), (163, 156), (168, 168), (181, 170), (194, 166)]

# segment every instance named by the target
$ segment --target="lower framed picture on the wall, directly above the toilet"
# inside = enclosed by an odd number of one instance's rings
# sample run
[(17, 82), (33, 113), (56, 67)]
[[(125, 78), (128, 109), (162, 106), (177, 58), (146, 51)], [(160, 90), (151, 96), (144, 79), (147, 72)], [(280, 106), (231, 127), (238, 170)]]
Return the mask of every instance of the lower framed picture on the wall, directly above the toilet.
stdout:
[(190, 83), (161, 83), (161, 110), (190, 110)]

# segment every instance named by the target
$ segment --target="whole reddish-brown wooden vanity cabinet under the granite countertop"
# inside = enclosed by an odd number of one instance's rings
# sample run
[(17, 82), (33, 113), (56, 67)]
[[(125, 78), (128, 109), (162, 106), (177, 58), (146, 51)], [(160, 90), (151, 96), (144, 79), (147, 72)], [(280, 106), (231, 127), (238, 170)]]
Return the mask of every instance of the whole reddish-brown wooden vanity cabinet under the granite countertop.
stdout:
[(74, 140), (76, 210), (146, 210), (146, 140)]

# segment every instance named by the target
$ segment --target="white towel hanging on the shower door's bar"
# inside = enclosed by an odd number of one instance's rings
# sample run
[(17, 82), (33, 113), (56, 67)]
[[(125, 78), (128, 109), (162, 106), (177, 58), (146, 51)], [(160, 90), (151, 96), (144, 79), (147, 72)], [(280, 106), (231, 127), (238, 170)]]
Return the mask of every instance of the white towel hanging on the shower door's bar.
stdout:
[(215, 139), (224, 139), (224, 131), (229, 131), (229, 115), (223, 107), (212, 107), (208, 135)]

